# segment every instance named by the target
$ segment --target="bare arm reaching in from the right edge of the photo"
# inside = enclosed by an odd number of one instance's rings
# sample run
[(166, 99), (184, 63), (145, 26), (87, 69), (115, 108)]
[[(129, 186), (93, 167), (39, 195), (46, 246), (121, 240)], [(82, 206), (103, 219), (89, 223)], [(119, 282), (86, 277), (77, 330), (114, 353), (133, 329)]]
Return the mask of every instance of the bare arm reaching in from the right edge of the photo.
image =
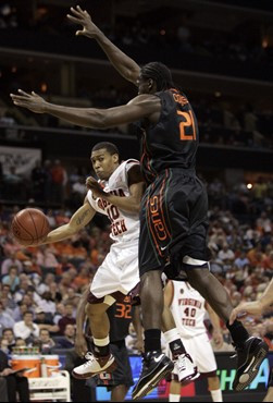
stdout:
[[(244, 318), (246, 315), (261, 316), (263, 310), (273, 304), (273, 279), (262, 296), (255, 302), (241, 303), (237, 308), (233, 309), (229, 323), (232, 325), (236, 319)], [(239, 318), (238, 318), (239, 316)]]

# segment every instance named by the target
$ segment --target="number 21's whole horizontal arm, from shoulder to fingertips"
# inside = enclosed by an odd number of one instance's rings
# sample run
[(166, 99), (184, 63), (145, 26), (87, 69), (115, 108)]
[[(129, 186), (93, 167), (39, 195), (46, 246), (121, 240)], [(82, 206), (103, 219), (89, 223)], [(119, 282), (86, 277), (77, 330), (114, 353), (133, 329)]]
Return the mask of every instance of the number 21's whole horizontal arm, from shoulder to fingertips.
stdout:
[(113, 127), (150, 118), (161, 110), (159, 97), (139, 95), (127, 105), (109, 109), (70, 108), (47, 102), (34, 91), (27, 94), (18, 89), (20, 95), (11, 94), (13, 103), (29, 109), (35, 113), (49, 113), (78, 126), (92, 129)]

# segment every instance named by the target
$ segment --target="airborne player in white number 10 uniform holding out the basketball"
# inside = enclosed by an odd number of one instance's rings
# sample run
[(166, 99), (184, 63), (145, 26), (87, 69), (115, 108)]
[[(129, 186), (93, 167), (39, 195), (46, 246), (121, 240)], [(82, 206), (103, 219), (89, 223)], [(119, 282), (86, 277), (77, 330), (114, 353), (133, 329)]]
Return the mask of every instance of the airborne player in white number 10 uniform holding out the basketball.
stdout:
[(88, 353), (86, 364), (73, 370), (73, 375), (80, 379), (115, 369), (109, 347), (107, 309), (115, 301), (124, 300), (124, 295), (139, 283), (138, 216), (144, 193), (139, 162), (131, 159), (120, 163), (119, 150), (113, 144), (97, 144), (90, 159), (99, 181), (87, 179), (89, 191), (84, 205), (67, 224), (51, 231), (42, 242), (53, 243), (73, 236), (91, 221), (96, 212), (108, 216), (111, 222), (113, 244), (94, 277), (86, 305), (95, 352)]

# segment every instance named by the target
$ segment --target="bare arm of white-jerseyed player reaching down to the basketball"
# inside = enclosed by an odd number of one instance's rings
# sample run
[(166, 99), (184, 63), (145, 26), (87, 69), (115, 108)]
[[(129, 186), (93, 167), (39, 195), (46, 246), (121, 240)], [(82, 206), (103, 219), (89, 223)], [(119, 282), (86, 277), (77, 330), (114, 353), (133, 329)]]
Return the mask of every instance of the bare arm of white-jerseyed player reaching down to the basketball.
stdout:
[(70, 222), (49, 232), (42, 244), (50, 244), (71, 237), (87, 225), (94, 218), (96, 210), (85, 200), (82, 206), (71, 218)]

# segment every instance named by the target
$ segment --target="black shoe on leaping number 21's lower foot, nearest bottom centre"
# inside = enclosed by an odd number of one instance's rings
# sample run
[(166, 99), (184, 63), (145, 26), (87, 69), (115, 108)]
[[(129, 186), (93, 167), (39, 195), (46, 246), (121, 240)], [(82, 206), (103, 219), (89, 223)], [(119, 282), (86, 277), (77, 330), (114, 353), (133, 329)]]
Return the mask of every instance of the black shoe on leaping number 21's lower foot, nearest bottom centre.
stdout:
[(144, 354), (142, 371), (133, 389), (133, 400), (146, 396), (173, 368), (173, 362), (159, 351)]

